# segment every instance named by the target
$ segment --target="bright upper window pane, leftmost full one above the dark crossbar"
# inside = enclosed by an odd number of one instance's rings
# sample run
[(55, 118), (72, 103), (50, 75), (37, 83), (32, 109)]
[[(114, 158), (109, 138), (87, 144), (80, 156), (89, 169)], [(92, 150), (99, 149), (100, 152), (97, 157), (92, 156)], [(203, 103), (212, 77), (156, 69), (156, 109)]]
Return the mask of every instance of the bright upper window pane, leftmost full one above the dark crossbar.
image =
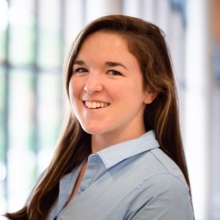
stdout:
[(30, 65), (34, 61), (35, 17), (22, 6), (9, 8), (9, 62)]

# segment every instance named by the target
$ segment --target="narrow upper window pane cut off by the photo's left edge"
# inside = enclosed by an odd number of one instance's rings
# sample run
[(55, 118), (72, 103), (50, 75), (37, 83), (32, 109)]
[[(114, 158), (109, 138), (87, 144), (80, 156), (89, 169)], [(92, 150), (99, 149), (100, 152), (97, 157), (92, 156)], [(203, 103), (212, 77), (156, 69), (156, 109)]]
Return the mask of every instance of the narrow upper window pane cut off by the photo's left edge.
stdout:
[(0, 62), (6, 59), (6, 28), (7, 28), (8, 5), (5, 0), (0, 0)]

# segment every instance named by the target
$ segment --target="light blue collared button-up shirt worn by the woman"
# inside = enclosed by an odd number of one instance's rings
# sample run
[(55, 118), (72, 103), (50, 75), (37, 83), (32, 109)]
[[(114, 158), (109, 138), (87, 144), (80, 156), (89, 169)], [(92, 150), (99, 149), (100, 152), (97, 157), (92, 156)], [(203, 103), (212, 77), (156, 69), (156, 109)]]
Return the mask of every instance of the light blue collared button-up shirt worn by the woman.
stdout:
[(65, 207), (82, 164), (60, 181), (47, 220), (193, 220), (179, 167), (153, 131), (91, 154), (78, 192)]

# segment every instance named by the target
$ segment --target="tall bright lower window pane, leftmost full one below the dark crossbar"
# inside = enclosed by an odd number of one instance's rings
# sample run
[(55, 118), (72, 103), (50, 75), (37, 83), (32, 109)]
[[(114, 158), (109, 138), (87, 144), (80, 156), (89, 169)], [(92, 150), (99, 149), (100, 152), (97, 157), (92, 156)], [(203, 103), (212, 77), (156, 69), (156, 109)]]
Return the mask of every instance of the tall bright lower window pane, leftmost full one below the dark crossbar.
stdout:
[[(36, 158), (33, 141), (34, 75), (29, 70), (11, 70), (9, 80), (9, 210), (22, 207), (33, 185)], [(19, 190), (18, 190), (19, 189)]]

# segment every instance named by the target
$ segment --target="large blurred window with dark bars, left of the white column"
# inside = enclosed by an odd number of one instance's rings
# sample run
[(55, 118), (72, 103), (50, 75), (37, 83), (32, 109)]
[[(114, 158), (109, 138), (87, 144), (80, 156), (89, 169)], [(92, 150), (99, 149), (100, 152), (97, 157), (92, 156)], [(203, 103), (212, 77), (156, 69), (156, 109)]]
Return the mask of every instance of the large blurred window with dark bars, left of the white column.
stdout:
[(81, 28), (111, 13), (156, 23), (184, 85), (184, 53), (175, 46), (185, 44), (183, 2), (0, 0), (0, 213), (22, 207), (51, 160), (64, 116), (64, 56)]

